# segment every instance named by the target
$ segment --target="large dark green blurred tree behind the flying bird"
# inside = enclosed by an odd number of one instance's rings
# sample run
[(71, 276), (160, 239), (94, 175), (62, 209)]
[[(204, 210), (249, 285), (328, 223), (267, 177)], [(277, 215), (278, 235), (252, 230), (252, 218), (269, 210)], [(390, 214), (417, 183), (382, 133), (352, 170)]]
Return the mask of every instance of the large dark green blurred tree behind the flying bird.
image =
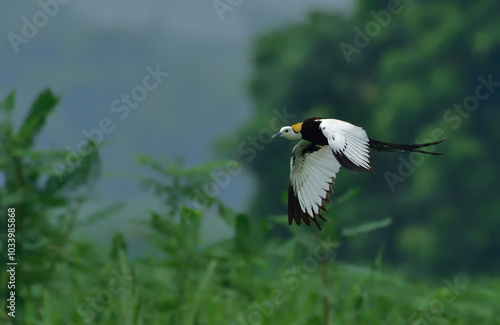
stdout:
[(385, 257), (416, 274), (498, 268), (499, 9), (490, 0), (359, 0), (351, 17), (313, 13), (257, 39), (254, 118), (236, 140), (220, 144), (255, 175), (251, 212), (286, 211), (281, 198), (293, 144), (266, 140), (253, 159), (241, 150), (270, 125), (274, 107), (286, 106), (296, 115), (291, 122), (338, 118), (380, 140), (447, 138), (437, 148), (441, 157), (375, 155), (376, 174), (341, 170), (334, 195), (362, 188), (356, 203), (332, 208), (341, 226), (394, 220), (342, 253), (373, 257), (385, 243)]

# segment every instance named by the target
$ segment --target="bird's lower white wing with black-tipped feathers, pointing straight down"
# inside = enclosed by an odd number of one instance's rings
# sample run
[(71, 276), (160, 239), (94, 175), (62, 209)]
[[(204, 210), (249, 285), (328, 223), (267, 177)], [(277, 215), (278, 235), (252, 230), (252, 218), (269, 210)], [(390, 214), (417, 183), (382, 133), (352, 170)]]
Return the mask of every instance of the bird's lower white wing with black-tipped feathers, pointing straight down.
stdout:
[(288, 185), (288, 224), (295, 220), (300, 225), (303, 220), (310, 225), (312, 219), (321, 229), (317, 217), (323, 219), (320, 209), (326, 211), (325, 201), (330, 201), (328, 194), (333, 192), (332, 185), (339, 169), (340, 164), (327, 145), (302, 140), (293, 148)]

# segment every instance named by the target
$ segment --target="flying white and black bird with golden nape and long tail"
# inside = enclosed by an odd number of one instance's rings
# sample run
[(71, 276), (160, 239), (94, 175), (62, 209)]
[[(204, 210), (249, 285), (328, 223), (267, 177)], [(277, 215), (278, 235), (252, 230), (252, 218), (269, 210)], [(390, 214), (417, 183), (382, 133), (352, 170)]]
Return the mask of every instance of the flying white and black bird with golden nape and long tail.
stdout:
[(371, 171), (371, 149), (390, 152), (439, 153), (420, 150), (444, 141), (422, 144), (396, 144), (368, 138), (365, 130), (348, 122), (312, 117), (292, 126), (284, 126), (273, 135), (288, 140), (302, 140), (292, 151), (288, 184), (288, 224), (311, 220), (321, 227), (318, 218), (326, 211), (325, 202), (333, 193), (340, 167), (354, 171)]

